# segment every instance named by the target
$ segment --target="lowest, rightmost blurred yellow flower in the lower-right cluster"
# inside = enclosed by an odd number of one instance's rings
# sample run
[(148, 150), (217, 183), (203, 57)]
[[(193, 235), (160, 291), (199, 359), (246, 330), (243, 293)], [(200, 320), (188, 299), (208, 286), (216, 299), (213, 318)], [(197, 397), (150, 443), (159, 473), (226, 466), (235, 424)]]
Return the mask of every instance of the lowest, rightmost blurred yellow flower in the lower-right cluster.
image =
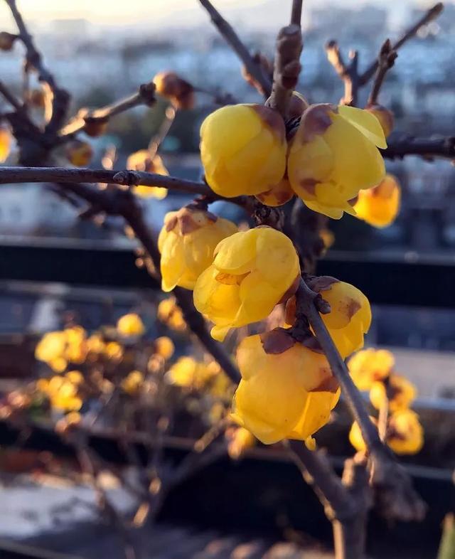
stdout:
[(424, 430), (412, 410), (400, 410), (390, 416), (387, 444), (396, 454), (417, 454), (424, 445)]

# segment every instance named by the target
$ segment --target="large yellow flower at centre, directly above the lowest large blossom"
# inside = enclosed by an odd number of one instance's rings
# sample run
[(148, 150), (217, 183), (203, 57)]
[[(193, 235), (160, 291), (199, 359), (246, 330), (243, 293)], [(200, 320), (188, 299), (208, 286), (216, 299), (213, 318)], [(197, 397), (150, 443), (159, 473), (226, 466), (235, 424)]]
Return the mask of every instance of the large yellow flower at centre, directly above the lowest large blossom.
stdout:
[(213, 265), (194, 288), (196, 309), (213, 321), (213, 338), (266, 318), (295, 292), (299, 257), (286, 235), (269, 227), (235, 233), (215, 248)]

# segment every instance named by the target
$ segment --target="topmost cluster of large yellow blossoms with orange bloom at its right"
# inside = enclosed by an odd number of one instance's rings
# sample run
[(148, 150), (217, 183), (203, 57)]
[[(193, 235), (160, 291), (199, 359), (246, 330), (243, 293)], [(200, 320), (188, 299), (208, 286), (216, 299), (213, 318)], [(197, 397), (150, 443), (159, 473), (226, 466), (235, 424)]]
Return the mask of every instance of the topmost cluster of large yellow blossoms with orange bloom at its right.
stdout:
[(296, 194), (331, 218), (347, 212), (378, 227), (390, 224), (400, 206), (397, 182), (387, 178), (385, 186), (369, 192), (385, 179), (378, 148), (387, 147), (389, 129), (382, 113), (344, 105), (302, 107), (289, 139), (281, 117), (262, 105), (231, 105), (209, 115), (200, 129), (200, 155), (213, 191), (228, 198), (256, 196), (269, 206)]

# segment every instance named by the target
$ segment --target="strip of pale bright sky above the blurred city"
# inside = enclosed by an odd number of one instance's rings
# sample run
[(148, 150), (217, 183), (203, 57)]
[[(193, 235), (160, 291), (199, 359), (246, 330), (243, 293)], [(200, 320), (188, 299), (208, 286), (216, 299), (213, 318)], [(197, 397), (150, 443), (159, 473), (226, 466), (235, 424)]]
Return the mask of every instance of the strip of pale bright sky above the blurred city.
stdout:
[[(214, 4), (223, 14), (241, 6), (258, 6), (265, 0), (215, 0)], [(288, 11), (291, 0), (276, 0)], [(320, 6), (328, 2), (341, 6), (359, 6), (366, 0), (306, 0), (309, 6)], [(396, 0), (370, 0), (374, 4), (393, 6)], [(18, 0), (18, 6), (28, 18), (48, 21), (55, 18), (87, 18), (105, 23), (136, 23), (144, 18), (159, 21), (175, 21), (198, 18), (198, 0)], [(400, 3), (401, 4), (401, 3)], [(407, 4), (429, 4), (426, 0), (407, 0)], [(289, 6), (288, 6), (289, 5)], [(3, 6), (1, 6), (4, 9)], [(0, 21), (1, 21), (0, 12)]]

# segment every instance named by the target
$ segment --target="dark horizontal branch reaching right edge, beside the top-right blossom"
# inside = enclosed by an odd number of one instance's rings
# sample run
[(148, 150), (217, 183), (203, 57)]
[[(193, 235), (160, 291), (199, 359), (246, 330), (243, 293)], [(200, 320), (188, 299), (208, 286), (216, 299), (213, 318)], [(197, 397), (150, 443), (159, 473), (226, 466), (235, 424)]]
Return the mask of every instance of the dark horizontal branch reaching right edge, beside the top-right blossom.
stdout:
[(387, 139), (387, 149), (381, 153), (387, 159), (402, 159), (407, 155), (455, 159), (455, 137), (423, 138), (395, 132)]

